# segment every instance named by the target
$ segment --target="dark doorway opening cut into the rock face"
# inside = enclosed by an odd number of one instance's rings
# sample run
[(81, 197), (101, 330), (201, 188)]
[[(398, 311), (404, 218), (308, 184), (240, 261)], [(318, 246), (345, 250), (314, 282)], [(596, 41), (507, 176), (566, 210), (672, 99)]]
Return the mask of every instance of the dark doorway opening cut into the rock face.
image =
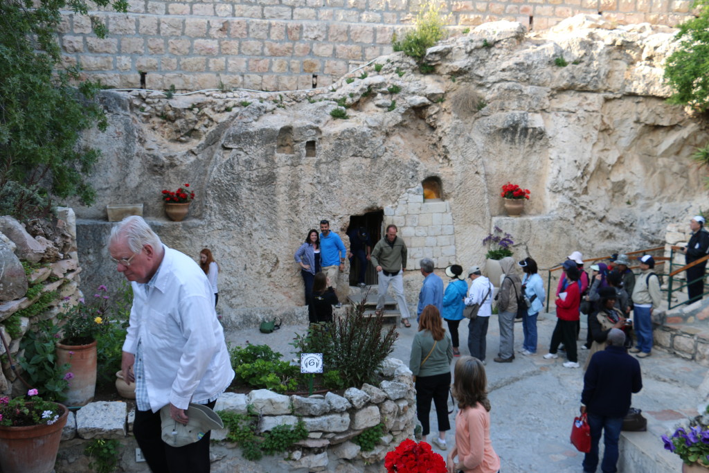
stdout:
[[(371, 250), (374, 250), (374, 245), (381, 239), (381, 223), (384, 221), (384, 211), (377, 210), (367, 212), (364, 215), (353, 215), (350, 217), (350, 226), (347, 227), (347, 237), (350, 238), (350, 250), (352, 245), (355, 249), (360, 247), (367, 254), (367, 245), (371, 245)], [(366, 235), (362, 235), (363, 231)], [(355, 253), (355, 252), (353, 252)], [(348, 254), (349, 255), (349, 254)], [(364, 268), (364, 284), (379, 284), (376, 277), (376, 270), (372, 263), (364, 260), (366, 267)], [(362, 262), (357, 255), (350, 259), (350, 286), (357, 286), (362, 281)]]

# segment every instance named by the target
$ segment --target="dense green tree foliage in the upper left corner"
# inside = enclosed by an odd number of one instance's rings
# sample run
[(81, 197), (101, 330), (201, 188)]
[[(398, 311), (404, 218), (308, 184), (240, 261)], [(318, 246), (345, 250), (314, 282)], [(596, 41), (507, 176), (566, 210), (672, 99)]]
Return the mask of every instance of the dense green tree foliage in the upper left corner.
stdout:
[[(127, 2), (94, 0), (126, 11)], [(62, 67), (60, 12), (86, 14), (84, 0), (0, 0), (0, 196), (21, 184), (28, 195), (94, 199), (86, 182), (99, 151), (80, 147), (82, 130), (106, 128), (95, 100), (100, 84), (80, 80), (80, 67)], [(103, 24), (91, 18), (94, 33)], [(0, 200), (2, 198), (0, 197)], [(19, 196), (21, 203), (28, 200)], [(16, 203), (15, 203), (16, 204)]]

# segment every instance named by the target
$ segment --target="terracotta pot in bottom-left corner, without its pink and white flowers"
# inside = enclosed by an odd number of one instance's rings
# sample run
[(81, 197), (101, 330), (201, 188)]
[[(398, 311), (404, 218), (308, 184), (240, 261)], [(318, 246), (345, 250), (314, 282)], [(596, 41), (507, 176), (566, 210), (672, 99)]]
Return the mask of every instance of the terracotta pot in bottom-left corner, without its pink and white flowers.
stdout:
[(54, 470), (69, 409), (52, 425), (0, 426), (0, 467), (4, 473), (49, 473)]

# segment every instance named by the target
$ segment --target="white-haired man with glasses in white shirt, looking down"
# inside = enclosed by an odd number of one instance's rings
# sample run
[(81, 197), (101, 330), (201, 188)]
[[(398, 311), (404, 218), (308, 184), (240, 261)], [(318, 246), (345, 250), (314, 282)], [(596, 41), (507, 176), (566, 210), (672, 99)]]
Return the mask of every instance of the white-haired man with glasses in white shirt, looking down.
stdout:
[(172, 447), (160, 428), (161, 408), (186, 424), (189, 403), (212, 408), (234, 377), (207, 277), (138, 216), (111, 230), (108, 252), (133, 286), (121, 369), (135, 380), (135, 440), (153, 472), (208, 472), (209, 433)]

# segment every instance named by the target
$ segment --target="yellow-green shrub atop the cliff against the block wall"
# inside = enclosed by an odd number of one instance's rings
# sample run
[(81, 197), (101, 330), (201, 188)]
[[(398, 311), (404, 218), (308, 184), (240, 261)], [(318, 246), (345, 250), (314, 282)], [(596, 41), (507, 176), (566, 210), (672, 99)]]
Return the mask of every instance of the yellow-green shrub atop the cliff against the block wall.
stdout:
[(401, 40), (394, 35), (391, 43), (393, 50), (403, 51), (417, 61), (423, 59), (426, 50), (445, 35), (443, 25), (447, 17), (441, 16), (441, 9), (442, 4), (434, 0), (426, 1), (416, 16), (415, 28), (406, 31)]

